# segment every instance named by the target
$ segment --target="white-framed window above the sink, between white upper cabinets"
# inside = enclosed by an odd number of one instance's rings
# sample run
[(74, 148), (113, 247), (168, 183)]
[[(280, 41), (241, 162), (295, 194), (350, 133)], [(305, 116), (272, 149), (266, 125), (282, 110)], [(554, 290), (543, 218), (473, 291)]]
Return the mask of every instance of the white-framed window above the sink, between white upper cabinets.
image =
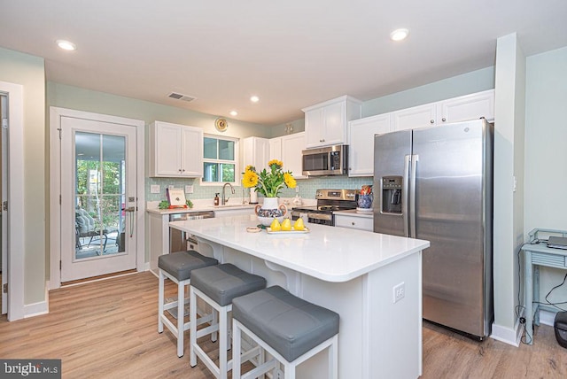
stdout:
[(205, 135), (202, 184), (237, 184), (238, 139)]

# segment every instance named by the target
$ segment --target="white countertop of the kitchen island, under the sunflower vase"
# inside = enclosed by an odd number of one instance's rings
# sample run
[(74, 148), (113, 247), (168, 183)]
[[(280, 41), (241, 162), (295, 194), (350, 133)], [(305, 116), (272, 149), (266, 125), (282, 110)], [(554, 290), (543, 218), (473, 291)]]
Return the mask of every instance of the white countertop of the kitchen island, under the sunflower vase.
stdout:
[(307, 224), (293, 235), (248, 233), (255, 215), (173, 221), (169, 225), (327, 282), (347, 282), (430, 246), (428, 241)]

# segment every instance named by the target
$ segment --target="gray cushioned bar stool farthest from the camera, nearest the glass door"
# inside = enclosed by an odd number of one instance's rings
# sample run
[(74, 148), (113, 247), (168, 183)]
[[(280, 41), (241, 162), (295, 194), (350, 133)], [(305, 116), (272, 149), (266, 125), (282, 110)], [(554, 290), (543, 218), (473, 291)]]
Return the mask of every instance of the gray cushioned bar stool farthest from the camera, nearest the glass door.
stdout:
[[(176, 251), (160, 255), (159, 267), (159, 306), (158, 306), (158, 332), (163, 332), (163, 326), (177, 338), (177, 356), (183, 357), (183, 332), (190, 328), (189, 322), (184, 322), (184, 308), (188, 302), (185, 300), (185, 286), (190, 285), (191, 271), (196, 268), (218, 265), (219, 261), (199, 254), (197, 251)], [(164, 287), (166, 277), (177, 284), (177, 300), (165, 304)], [(177, 325), (170, 321), (164, 311), (177, 307)], [(208, 320), (210, 321), (212, 317)], [(206, 322), (202, 318), (200, 322)]]

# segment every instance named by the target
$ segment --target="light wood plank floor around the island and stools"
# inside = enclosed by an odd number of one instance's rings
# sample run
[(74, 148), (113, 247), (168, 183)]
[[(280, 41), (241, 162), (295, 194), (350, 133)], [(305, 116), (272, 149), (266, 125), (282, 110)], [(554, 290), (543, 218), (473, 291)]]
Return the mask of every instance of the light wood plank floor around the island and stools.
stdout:
[[(167, 292), (173, 295), (171, 284)], [(64, 378), (213, 377), (200, 362), (189, 366), (187, 334), (180, 359), (171, 333), (157, 332), (157, 289), (158, 279), (141, 273), (50, 291), (49, 314), (0, 319), (0, 358), (61, 359)], [(425, 323), (422, 377), (565, 378), (567, 350), (548, 326), (537, 329), (534, 345), (516, 348), (491, 338), (478, 343)]]

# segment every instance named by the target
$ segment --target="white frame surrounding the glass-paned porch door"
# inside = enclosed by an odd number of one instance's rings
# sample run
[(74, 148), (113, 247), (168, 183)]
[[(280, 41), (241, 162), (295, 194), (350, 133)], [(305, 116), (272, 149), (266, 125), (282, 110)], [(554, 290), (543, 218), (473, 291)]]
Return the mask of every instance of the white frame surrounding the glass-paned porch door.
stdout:
[(75, 111), (50, 106), (50, 290), (61, 287), (61, 117), (119, 123), (136, 128), (136, 270), (145, 270), (145, 187), (144, 187), (144, 120), (127, 119), (107, 114)]

